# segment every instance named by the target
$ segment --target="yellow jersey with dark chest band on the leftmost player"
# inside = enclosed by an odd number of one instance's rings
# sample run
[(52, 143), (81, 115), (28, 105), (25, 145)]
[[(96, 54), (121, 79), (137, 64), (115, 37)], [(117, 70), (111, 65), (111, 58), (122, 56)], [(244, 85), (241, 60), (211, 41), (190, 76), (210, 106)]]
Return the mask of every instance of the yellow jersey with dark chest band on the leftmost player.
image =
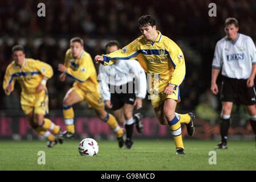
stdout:
[[(5, 77), (3, 80), (3, 89), (9, 84), (13, 85), (18, 81), (21, 85), (22, 94), (37, 93), (36, 88), (39, 86), (43, 77), (51, 78), (53, 71), (50, 65), (39, 60), (26, 58), (23, 61), (22, 67), (16, 65), (12, 61), (6, 68)], [(9, 95), (10, 93), (7, 93)]]

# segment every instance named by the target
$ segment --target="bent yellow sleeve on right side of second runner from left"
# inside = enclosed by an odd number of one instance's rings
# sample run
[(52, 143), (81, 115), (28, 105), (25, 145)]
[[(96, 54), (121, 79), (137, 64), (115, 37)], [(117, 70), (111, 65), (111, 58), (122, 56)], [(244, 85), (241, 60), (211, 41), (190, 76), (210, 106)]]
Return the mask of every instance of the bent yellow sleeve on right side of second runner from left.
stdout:
[(79, 82), (86, 81), (87, 78), (91, 76), (92, 71), (95, 70), (91, 68), (94, 65), (90, 64), (89, 61), (92, 62), (92, 58), (91, 56), (87, 55), (84, 59), (81, 60), (78, 69), (73, 70), (71, 68), (67, 68), (66, 75)]

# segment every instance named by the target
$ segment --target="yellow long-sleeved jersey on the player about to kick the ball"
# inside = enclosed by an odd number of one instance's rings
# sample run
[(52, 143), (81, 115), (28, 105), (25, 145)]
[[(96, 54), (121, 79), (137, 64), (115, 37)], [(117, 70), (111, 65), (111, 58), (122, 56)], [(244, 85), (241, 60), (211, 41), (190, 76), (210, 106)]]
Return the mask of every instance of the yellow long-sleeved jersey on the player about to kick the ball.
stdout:
[(149, 42), (140, 36), (119, 51), (103, 55), (104, 65), (113, 64), (119, 59), (136, 58), (147, 73), (159, 74), (160, 79), (168, 80), (176, 87), (185, 77), (184, 55), (171, 39), (158, 32), (155, 42)]

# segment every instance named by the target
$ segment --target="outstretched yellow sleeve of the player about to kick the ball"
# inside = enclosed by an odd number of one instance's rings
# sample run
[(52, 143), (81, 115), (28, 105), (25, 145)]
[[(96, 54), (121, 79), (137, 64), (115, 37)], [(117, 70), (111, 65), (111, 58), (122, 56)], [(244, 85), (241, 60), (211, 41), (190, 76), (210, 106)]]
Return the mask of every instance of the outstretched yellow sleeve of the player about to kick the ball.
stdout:
[(138, 42), (139, 38), (133, 40), (133, 42), (129, 43), (123, 49), (120, 49), (116, 52), (109, 53), (109, 55), (103, 55), (104, 65), (113, 64), (113, 60), (119, 59), (134, 59), (140, 51), (138, 50)]

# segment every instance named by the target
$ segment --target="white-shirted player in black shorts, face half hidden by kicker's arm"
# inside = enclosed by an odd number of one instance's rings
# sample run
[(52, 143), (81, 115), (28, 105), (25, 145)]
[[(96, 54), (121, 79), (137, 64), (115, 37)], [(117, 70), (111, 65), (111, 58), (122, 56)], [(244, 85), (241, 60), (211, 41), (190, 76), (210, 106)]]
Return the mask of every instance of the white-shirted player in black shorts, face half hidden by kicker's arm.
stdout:
[[(106, 52), (111, 53), (119, 50), (119, 43), (112, 40), (105, 46)], [(132, 148), (133, 125), (139, 133), (143, 132), (141, 114), (133, 115), (133, 109), (140, 109), (143, 99), (147, 94), (147, 78), (143, 68), (136, 60), (118, 60), (115, 64), (99, 66), (99, 78), (101, 97), (105, 107), (113, 110), (113, 115), (119, 125), (125, 126), (125, 146)], [(133, 83), (135, 79), (135, 83)], [(110, 90), (109, 90), (110, 88)], [(117, 93), (121, 90), (121, 93)], [(111, 92), (112, 91), (112, 92)]]

